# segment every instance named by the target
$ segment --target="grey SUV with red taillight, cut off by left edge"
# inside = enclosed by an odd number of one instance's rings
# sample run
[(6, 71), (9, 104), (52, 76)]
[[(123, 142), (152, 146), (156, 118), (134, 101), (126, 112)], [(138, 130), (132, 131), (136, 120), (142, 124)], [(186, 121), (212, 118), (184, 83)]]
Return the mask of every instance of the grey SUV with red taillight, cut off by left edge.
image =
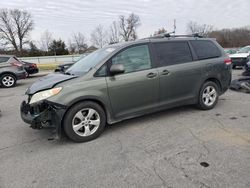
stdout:
[(14, 56), (0, 55), (0, 85), (9, 88), (16, 85), (16, 81), (27, 77), (23, 64)]

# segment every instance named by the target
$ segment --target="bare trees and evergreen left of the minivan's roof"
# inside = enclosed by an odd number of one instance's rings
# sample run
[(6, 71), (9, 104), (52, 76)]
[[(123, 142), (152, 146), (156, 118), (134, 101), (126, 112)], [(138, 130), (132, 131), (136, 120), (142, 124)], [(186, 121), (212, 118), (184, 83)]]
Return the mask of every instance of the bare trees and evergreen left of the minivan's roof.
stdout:
[(138, 26), (140, 17), (131, 13), (127, 17), (119, 16), (109, 28), (96, 26), (90, 35), (90, 46), (81, 32), (73, 33), (68, 45), (62, 39), (55, 39), (48, 30), (41, 34), (40, 40), (32, 41), (30, 34), (34, 21), (31, 14), (25, 10), (0, 9), (0, 53), (41, 56), (91, 52), (107, 44), (136, 40)]

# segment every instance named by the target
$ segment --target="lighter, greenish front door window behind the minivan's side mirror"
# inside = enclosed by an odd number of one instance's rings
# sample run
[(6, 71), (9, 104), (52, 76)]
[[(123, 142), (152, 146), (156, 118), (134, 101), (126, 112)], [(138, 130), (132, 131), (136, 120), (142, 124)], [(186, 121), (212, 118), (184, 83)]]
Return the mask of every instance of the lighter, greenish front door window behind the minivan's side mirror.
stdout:
[(128, 48), (112, 58), (112, 64), (122, 64), (125, 73), (151, 68), (148, 45)]

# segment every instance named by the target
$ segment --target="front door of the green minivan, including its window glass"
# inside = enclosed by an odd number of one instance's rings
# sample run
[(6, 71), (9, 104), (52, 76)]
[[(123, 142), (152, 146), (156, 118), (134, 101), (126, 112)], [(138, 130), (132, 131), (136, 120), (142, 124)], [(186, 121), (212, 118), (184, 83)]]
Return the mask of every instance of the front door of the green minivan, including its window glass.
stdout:
[(151, 62), (147, 44), (126, 48), (112, 58), (112, 64), (125, 68), (125, 73), (106, 78), (116, 118), (137, 116), (157, 106), (159, 78)]

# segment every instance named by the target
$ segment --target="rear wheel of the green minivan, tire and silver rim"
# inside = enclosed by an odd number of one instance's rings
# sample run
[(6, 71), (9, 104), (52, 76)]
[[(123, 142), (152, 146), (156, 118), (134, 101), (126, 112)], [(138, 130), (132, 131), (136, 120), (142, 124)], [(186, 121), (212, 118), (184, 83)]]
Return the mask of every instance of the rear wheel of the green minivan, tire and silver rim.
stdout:
[(217, 104), (219, 98), (219, 88), (214, 82), (205, 82), (199, 93), (198, 108), (210, 110)]

